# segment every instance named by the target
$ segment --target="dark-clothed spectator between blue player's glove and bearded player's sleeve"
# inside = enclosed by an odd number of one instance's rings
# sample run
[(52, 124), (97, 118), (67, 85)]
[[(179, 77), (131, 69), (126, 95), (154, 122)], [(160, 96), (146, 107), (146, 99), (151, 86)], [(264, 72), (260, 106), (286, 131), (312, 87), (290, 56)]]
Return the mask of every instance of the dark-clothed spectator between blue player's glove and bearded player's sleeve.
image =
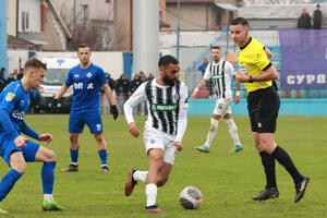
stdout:
[(126, 74), (122, 74), (120, 78), (117, 80), (116, 94), (119, 113), (123, 113), (123, 105), (131, 95), (130, 86), (131, 82)]

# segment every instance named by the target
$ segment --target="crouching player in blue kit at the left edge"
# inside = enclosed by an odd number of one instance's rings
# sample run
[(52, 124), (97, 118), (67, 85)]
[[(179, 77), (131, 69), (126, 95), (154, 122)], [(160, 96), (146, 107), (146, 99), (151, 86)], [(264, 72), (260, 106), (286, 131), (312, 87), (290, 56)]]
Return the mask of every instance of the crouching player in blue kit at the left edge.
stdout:
[(44, 81), (47, 65), (37, 59), (29, 59), (24, 66), (24, 75), (21, 81), (10, 83), (0, 95), (0, 155), (11, 167), (11, 170), (0, 182), (0, 214), (7, 214), (1, 202), (12, 190), (15, 182), (26, 170), (26, 162), (44, 162), (41, 169), (44, 189), (44, 210), (62, 210), (53, 201), (52, 189), (55, 183), (53, 170), (56, 155), (52, 150), (28, 141), (25, 135), (50, 143), (52, 135), (38, 134), (24, 121), (29, 108), (29, 90), (38, 88)]

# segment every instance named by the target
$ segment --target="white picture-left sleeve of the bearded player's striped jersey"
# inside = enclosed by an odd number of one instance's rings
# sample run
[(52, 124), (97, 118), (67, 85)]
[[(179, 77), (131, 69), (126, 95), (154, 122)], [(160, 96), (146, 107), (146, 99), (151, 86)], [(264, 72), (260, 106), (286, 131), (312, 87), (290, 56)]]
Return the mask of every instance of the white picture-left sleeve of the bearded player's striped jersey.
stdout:
[(143, 83), (138, 86), (138, 88), (130, 96), (129, 100), (124, 104), (124, 114), (128, 123), (134, 122), (133, 118), (133, 107), (136, 106), (138, 102), (146, 100), (145, 95), (145, 85)]

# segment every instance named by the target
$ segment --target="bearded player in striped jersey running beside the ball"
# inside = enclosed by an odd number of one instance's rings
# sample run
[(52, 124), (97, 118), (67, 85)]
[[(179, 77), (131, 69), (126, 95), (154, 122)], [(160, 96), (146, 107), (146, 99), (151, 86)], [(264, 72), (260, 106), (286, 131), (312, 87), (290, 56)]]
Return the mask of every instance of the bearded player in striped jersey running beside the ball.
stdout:
[(137, 181), (146, 184), (146, 213), (162, 213), (156, 204), (157, 187), (168, 181), (175, 158), (175, 149), (183, 149), (182, 138), (186, 129), (187, 87), (177, 80), (179, 61), (172, 56), (159, 59), (160, 75), (143, 83), (124, 105), (130, 133), (138, 137), (133, 119), (133, 107), (147, 100), (148, 118), (144, 128), (144, 144), (149, 161), (148, 171), (132, 168), (125, 184), (130, 196)]

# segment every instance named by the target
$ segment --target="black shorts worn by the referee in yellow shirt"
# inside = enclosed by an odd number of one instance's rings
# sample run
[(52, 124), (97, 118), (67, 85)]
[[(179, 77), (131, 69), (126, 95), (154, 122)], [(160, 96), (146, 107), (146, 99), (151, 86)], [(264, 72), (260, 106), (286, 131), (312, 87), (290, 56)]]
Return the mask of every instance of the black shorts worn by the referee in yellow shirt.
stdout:
[(247, 96), (247, 110), (252, 132), (275, 133), (279, 106), (275, 87), (251, 92)]

